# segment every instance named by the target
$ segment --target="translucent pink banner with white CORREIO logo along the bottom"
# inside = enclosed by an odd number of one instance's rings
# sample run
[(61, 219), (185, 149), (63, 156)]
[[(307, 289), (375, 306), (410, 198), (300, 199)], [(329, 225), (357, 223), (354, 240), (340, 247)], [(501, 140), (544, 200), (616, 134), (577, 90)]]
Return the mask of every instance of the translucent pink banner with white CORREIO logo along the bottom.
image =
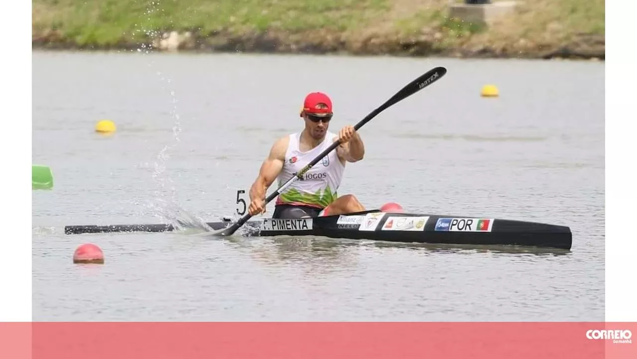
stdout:
[(637, 323), (0, 323), (0, 358), (637, 358)]

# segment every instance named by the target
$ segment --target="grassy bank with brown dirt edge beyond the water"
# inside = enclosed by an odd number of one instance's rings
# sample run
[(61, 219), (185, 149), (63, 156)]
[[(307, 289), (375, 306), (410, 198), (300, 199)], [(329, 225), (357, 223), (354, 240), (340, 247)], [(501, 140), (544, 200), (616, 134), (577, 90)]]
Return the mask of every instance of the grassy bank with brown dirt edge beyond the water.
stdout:
[[(603, 57), (603, 0), (519, 0), (514, 13), (488, 27), (449, 18), (450, 1), (455, 0), (32, 0), (32, 43), (45, 48)], [(171, 31), (176, 33), (169, 38)]]

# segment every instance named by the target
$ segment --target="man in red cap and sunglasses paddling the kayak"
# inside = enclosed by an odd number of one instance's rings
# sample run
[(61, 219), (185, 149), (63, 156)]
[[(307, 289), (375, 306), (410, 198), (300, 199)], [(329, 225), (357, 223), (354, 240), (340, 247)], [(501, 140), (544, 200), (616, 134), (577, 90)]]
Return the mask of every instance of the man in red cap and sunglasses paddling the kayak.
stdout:
[(257, 179), (250, 187), (251, 216), (263, 214), (266, 191), (278, 179), (279, 186), (301, 171), (333, 142), (341, 144), (317, 165), (290, 184), (276, 198), (273, 218), (318, 217), (365, 210), (353, 194), (338, 197), (345, 163), (360, 161), (365, 149), (354, 126), (343, 127), (338, 135), (328, 131), (333, 117), (332, 101), (326, 94), (312, 92), (303, 103), (301, 117), (305, 127), (276, 140), (263, 161)]

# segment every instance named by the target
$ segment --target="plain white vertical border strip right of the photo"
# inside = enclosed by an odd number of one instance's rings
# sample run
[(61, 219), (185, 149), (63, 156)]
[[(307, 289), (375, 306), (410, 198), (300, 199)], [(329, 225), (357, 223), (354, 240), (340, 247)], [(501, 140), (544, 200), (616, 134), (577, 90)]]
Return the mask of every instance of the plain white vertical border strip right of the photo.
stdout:
[[(610, 9), (609, 9), (610, 8)], [(609, 11), (610, 10), (610, 11)], [(606, 2), (606, 321), (637, 321), (634, 1)]]

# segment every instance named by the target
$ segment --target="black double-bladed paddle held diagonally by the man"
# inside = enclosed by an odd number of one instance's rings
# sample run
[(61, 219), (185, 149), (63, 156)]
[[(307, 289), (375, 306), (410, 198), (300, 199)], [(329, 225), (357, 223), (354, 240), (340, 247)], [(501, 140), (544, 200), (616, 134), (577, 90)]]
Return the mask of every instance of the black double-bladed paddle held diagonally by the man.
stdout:
[[(419, 78), (413, 80), (412, 82), (407, 84), (405, 87), (403, 87), (401, 91), (396, 92), (396, 94), (392, 96), (392, 98), (388, 99), (385, 103), (383, 103), (378, 108), (376, 108), (376, 110), (373, 110), (371, 114), (367, 115), (367, 117), (362, 119), (361, 122), (357, 123), (354, 126), (354, 129), (358, 130), (359, 128), (362, 127), (362, 125), (369, 122), (369, 120), (376, 117), (376, 115), (380, 114), (380, 112), (382, 112), (389, 106), (394, 105), (394, 103), (397, 103), (398, 101), (402, 101), (403, 99), (406, 99), (409, 96), (412, 96), (413, 94), (415, 94), (416, 92), (424, 89), (428, 85), (433, 84), (438, 79), (443, 77), (445, 73), (447, 73), (447, 69), (443, 67), (433, 68), (432, 70), (427, 71), (424, 75), (420, 76)], [(281, 191), (283, 191), (283, 189), (287, 188), (287, 186), (290, 186), (292, 182), (294, 182), (297, 179), (301, 179), (303, 175), (305, 174), (305, 172), (308, 172), (310, 168), (316, 165), (318, 161), (322, 160), (325, 156), (327, 156), (327, 154), (329, 154), (329, 152), (332, 152), (332, 150), (336, 149), (336, 147), (338, 147), (338, 145), (340, 144), (341, 144), (340, 140), (332, 143), (332, 145), (328, 147), (326, 150), (324, 150), (323, 152), (321, 152), (321, 154), (319, 154), (317, 158), (313, 159), (310, 163), (308, 163), (307, 166), (303, 167), (303, 169), (300, 172), (297, 172), (294, 176), (292, 176), (292, 178), (287, 180), (287, 182), (285, 182), (283, 186), (279, 187), (274, 193), (270, 194), (268, 198), (266, 198), (265, 205), (268, 205), (270, 201), (274, 200), (276, 196), (278, 196), (281, 193)], [(225, 228), (225, 230), (217, 231), (213, 233), (213, 235), (218, 235), (218, 236), (233, 235), (233, 233), (236, 230), (238, 230), (241, 226), (243, 226), (243, 224), (246, 223), (248, 219), (250, 219), (250, 217), (252, 217), (250, 213), (247, 213), (245, 214), (245, 216), (241, 217), (241, 219), (239, 219), (237, 223), (234, 223), (232, 226)]]

